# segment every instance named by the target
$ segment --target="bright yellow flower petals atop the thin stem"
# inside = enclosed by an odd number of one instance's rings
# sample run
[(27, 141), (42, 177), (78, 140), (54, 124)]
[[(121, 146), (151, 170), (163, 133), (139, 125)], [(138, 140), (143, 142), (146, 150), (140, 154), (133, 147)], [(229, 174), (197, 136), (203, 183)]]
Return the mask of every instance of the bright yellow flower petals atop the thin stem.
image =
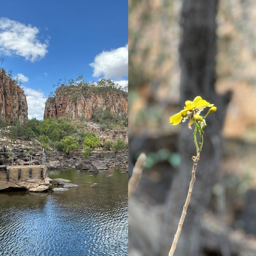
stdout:
[[(200, 96), (196, 96), (193, 101), (187, 100), (185, 102), (184, 109), (170, 117), (170, 124), (177, 125), (180, 123), (185, 114), (196, 114), (205, 107), (212, 107), (214, 104), (210, 104), (206, 100), (203, 100)], [(188, 113), (189, 112), (189, 113)]]

